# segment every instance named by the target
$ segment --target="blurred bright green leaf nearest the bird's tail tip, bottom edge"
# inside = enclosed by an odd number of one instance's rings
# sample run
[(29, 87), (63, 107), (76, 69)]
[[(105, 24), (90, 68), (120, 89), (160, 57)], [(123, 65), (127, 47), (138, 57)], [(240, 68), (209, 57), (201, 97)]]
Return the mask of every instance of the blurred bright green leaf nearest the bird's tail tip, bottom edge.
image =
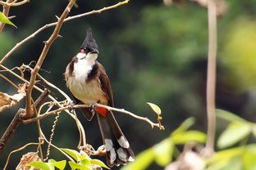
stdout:
[(136, 156), (134, 162), (128, 163), (126, 166), (123, 166), (121, 170), (144, 170), (149, 167), (149, 164), (153, 162), (154, 159), (154, 150), (149, 148), (144, 150)]

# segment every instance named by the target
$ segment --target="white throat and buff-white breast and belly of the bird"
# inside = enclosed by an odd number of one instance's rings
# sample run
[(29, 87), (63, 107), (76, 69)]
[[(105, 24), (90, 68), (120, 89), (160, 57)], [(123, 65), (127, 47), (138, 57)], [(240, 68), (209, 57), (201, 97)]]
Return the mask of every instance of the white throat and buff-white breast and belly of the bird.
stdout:
[(92, 63), (88, 60), (78, 60), (74, 63), (73, 76), (67, 78), (66, 83), (75, 98), (90, 105), (93, 102), (100, 101), (101, 104), (107, 105), (105, 93), (101, 89), (98, 78), (86, 81), (89, 72), (93, 69)]

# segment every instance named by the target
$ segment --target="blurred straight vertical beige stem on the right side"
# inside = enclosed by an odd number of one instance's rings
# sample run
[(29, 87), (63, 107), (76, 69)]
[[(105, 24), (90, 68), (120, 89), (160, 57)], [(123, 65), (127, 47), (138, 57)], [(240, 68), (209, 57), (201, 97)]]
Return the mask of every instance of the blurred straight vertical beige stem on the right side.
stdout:
[(205, 156), (214, 152), (216, 132), (215, 88), (216, 88), (216, 57), (217, 57), (217, 14), (216, 0), (208, 1), (208, 70), (207, 70), (207, 116), (208, 132), (204, 150)]

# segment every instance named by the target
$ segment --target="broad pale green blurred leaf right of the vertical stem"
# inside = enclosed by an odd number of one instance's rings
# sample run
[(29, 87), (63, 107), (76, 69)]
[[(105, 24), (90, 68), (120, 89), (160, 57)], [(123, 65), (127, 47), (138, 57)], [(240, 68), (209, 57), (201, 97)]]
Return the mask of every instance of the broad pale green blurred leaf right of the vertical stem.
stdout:
[(217, 147), (223, 149), (228, 146), (234, 145), (236, 142), (241, 141), (248, 136), (252, 131), (252, 124), (245, 122), (233, 122), (222, 132), (217, 140)]

